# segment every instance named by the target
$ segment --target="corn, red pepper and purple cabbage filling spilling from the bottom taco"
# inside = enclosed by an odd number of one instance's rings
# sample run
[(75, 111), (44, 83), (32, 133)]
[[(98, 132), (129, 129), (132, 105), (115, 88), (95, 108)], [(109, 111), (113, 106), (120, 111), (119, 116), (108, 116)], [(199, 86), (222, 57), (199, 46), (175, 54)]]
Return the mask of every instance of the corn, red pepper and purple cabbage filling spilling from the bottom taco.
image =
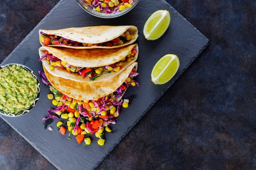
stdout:
[(128, 86), (139, 86), (133, 80), (133, 77), (138, 73), (132, 70), (126, 81), (112, 94), (101, 97), (97, 100), (76, 100), (68, 97), (55, 89), (52, 84), (47, 80), (45, 74), (39, 71), (44, 84), (49, 86), (52, 94), (48, 95), (52, 99), (52, 104), (55, 109), (48, 109), (49, 116), (43, 118), (47, 119), (61, 119), (58, 121), (57, 126), (62, 135), (66, 131), (69, 132), (69, 138), (75, 136), (78, 144), (84, 141), (84, 145), (91, 144), (90, 135), (95, 135), (99, 138), (97, 143), (102, 146), (105, 143), (104, 133), (111, 132), (110, 124), (115, 124), (120, 108), (128, 107), (128, 99), (122, 100)]

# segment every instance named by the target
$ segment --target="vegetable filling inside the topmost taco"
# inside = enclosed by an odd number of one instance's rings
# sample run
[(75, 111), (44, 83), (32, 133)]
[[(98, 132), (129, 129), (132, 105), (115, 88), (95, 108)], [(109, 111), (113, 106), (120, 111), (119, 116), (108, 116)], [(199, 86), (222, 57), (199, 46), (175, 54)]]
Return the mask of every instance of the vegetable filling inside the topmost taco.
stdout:
[(58, 35), (52, 35), (52, 34), (46, 34), (43, 33), (42, 31), (40, 32), (40, 42), (43, 45), (66, 45), (66, 46), (117, 46), (117, 45), (123, 45), (125, 42), (128, 42), (130, 40), (134, 40), (135, 36), (132, 35), (132, 31), (126, 30), (121, 36), (118, 38), (115, 38), (113, 40), (110, 40), (108, 42), (103, 42), (99, 44), (87, 44), (87, 43), (82, 43), (82, 42), (77, 42), (73, 40), (69, 40), (67, 38), (63, 38)]

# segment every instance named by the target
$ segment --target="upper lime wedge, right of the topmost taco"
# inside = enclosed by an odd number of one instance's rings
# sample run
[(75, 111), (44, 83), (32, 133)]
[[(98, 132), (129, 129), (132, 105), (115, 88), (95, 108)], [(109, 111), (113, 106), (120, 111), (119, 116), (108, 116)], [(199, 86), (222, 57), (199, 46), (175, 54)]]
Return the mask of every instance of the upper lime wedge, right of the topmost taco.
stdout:
[(143, 34), (147, 40), (160, 38), (171, 22), (171, 15), (167, 10), (158, 10), (150, 15), (144, 24)]

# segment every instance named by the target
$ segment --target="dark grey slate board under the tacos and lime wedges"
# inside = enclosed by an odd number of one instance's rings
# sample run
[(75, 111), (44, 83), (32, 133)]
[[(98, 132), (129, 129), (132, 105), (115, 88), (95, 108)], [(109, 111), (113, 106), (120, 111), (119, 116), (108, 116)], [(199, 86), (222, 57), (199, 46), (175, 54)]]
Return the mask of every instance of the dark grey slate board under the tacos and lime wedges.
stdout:
[[(166, 9), (170, 12), (171, 24), (159, 40), (148, 41), (143, 36), (143, 26), (150, 14), (158, 9)], [(137, 97), (132, 100), (132, 104), (128, 108), (121, 109), (117, 124), (111, 126), (113, 132), (105, 135), (106, 143), (103, 147), (97, 144), (96, 138), (92, 139), (90, 146), (78, 145), (74, 137), (72, 140), (68, 140), (67, 134), (62, 136), (58, 132), (56, 127), (58, 120), (54, 120), (54, 123), (50, 125), (54, 129), (53, 131), (44, 129), (42, 119), (48, 116), (47, 110), (52, 104), (47, 99), (49, 89), (42, 81), (40, 81), (40, 99), (31, 112), (17, 118), (1, 116), (60, 170), (96, 168), (208, 45), (208, 39), (164, 0), (152, 1), (150, 5), (146, 1), (140, 0), (130, 13), (115, 19), (96, 18), (83, 11), (75, 0), (61, 0), (1, 65), (20, 63), (30, 67), (36, 73), (38, 70), (43, 71), (41, 63), (38, 63), (39, 29), (93, 25), (135, 25), (139, 29), (137, 40), (139, 45), (139, 58), (137, 60), (139, 75), (135, 80), (140, 86), (128, 88), (124, 98), (131, 95), (137, 95)], [(167, 84), (154, 85), (150, 80), (151, 70), (155, 62), (167, 53), (174, 53), (180, 58), (180, 69)]]

